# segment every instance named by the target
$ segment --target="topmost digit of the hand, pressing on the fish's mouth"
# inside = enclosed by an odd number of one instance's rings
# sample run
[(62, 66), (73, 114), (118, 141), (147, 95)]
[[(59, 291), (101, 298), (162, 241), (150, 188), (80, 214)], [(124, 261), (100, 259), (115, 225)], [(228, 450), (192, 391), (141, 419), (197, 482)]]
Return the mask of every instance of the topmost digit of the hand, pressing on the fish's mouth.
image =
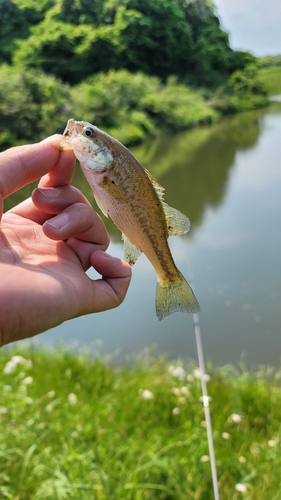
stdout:
[(0, 153), (0, 196), (3, 199), (52, 170), (59, 160), (61, 136)]

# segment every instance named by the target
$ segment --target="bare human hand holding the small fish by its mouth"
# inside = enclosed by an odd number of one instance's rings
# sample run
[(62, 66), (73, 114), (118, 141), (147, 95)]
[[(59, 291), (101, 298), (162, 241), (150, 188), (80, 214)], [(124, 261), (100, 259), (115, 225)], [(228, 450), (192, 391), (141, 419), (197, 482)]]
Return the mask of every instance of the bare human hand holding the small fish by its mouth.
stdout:
[[(0, 345), (117, 307), (129, 286), (130, 266), (104, 253), (105, 226), (70, 185), (75, 158), (61, 139), (0, 153)], [(32, 197), (3, 214), (2, 200), (40, 177)], [(90, 266), (100, 279), (87, 276)]]

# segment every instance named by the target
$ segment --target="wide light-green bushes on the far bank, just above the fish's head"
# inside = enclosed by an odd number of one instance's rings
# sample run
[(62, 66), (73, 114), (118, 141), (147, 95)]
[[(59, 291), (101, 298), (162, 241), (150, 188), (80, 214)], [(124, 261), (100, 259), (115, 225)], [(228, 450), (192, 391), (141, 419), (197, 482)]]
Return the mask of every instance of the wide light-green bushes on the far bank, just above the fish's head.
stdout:
[(174, 79), (164, 85), (156, 77), (126, 70), (99, 73), (77, 85), (72, 95), (76, 116), (126, 144), (159, 129), (180, 130), (216, 118), (199, 92)]

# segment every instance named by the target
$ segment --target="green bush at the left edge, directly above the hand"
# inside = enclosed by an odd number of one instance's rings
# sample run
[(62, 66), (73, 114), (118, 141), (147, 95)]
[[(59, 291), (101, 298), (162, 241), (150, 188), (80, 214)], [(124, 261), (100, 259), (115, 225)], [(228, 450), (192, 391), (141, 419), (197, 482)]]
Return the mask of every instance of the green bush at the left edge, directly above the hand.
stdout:
[(36, 70), (0, 66), (0, 144), (37, 141), (61, 131), (72, 114), (70, 90)]

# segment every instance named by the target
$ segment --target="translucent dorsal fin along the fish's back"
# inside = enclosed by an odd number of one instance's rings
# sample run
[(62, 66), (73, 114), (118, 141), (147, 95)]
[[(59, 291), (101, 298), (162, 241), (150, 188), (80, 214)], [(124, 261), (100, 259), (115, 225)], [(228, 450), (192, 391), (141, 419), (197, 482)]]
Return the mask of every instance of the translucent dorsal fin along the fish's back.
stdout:
[(190, 220), (188, 219), (188, 217), (179, 212), (176, 208), (170, 207), (163, 201), (165, 188), (163, 188), (163, 186), (161, 186), (161, 184), (159, 184), (157, 180), (154, 179), (154, 177), (148, 170), (145, 169), (145, 172), (151, 184), (153, 185), (159, 200), (162, 203), (166, 216), (169, 236), (179, 236), (180, 234), (188, 233), (190, 229)]

